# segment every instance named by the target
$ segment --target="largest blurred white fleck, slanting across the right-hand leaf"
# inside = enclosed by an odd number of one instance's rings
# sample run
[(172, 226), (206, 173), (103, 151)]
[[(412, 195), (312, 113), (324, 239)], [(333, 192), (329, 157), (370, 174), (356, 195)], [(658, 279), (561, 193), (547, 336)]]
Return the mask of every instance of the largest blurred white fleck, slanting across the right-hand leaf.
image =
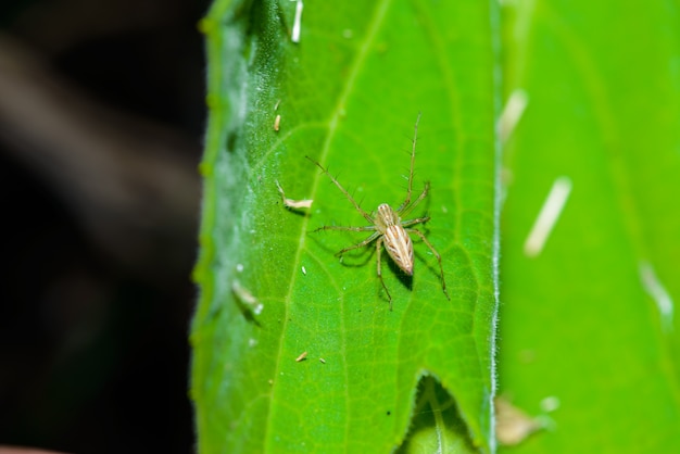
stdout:
[(570, 192), (571, 179), (569, 177), (559, 177), (555, 180), (525, 242), (527, 256), (536, 257), (541, 253)]

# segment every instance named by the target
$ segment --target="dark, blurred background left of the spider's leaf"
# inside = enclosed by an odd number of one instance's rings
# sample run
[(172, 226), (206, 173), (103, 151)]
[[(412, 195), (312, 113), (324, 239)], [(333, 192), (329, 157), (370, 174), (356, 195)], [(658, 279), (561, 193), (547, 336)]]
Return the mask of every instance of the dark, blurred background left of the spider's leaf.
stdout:
[(193, 451), (206, 9), (0, 2), (0, 445)]

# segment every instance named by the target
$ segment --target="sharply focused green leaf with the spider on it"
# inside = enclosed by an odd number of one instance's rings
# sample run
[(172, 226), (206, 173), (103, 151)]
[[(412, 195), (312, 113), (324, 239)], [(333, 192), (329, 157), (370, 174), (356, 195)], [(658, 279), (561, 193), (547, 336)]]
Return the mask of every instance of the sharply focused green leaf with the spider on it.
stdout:
[[(442, 450), (491, 452), (495, 3), (307, 1), (293, 43), (295, 5), (215, 2), (201, 24), (211, 112), (191, 335), (199, 450), (413, 452), (445, 433)], [(413, 279), (382, 254), (390, 311), (375, 247), (333, 256), (366, 235), (312, 232), (366, 220), (304, 156), (366, 210), (396, 207), (419, 112), (414, 197), (431, 190), (411, 216), (431, 216), (416, 227), (441, 253), (451, 300), (414, 236)], [(276, 181), (312, 210), (286, 209)], [(435, 416), (415, 415), (417, 440), (403, 444), (416, 406)]]

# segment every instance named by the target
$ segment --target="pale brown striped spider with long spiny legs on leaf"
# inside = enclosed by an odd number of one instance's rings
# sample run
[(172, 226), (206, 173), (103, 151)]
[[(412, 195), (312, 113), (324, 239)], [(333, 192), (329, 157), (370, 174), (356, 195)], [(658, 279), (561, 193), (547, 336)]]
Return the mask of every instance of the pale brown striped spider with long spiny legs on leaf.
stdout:
[(318, 162), (314, 161), (312, 157), (306, 156), (307, 160), (312, 161), (314, 164), (318, 166), (318, 168), (326, 174), (328, 178), (340, 189), (340, 191), (348, 198), (348, 200), (354, 205), (354, 209), (362, 215), (370, 225), (363, 227), (341, 227), (341, 226), (322, 226), (314, 231), (318, 230), (350, 230), (350, 231), (373, 231), (373, 234), (366, 238), (364, 241), (351, 245), (349, 248), (344, 248), (340, 252), (336, 254), (336, 256), (342, 256), (348, 251), (352, 251), (354, 249), (363, 248), (369, 244), (373, 241), (376, 241), (376, 251), (378, 255), (378, 278), (380, 279), (380, 283), (382, 283), (382, 288), (387, 293), (388, 300), (390, 302), (390, 311), (392, 311), (392, 295), (385, 285), (385, 280), (382, 279), (382, 272), (380, 269), (380, 254), (382, 251), (382, 245), (385, 244), (385, 249), (390, 257), (394, 261), (394, 263), (408, 276), (413, 276), (413, 242), (411, 241), (411, 234), (418, 236), (423, 240), (425, 244), (432, 251), (432, 254), (437, 257), (439, 262), (439, 269), (441, 273), (441, 289), (444, 292), (446, 299), (450, 300), (449, 293), (446, 292), (446, 281), (444, 279), (444, 268), (441, 264), (441, 255), (437, 252), (435, 247), (425, 238), (425, 235), (418, 229), (408, 228), (415, 224), (423, 224), (430, 220), (429, 216), (418, 217), (415, 219), (402, 220), (402, 217), (406, 216), (408, 213), (415, 209), (418, 203), (423, 201), (427, 197), (428, 191), (430, 190), (429, 181), (425, 182), (425, 188), (420, 196), (418, 196), (413, 202), (411, 201), (412, 188), (413, 188), (413, 165), (415, 163), (416, 156), (416, 137), (418, 135), (418, 123), (420, 121), (420, 115), (416, 119), (414, 136), (413, 136), (413, 148), (411, 151), (411, 171), (408, 173), (408, 190), (406, 192), (406, 199), (399, 206), (399, 209), (394, 210), (387, 203), (381, 203), (378, 205), (378, 210), (375, 213), (368, 214), (365, 212), (358, 203), (350, 196), (350, 193), (338, 182), (338, 180), (330, 175), (327, 168), (324, 168)]

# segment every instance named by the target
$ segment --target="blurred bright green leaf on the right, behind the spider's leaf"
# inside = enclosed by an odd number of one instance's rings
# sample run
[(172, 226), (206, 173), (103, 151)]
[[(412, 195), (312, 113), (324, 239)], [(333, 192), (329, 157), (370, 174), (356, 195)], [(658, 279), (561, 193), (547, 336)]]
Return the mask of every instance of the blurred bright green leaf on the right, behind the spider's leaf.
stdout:
[[(559, 402), (512, 452), (680, 452), (678, 3), (505, 12), (508, 88), (529, 103), (506, 152), (501, 392), (534, 415)], [(559, 177), (570, 196), (527, 256)]]

